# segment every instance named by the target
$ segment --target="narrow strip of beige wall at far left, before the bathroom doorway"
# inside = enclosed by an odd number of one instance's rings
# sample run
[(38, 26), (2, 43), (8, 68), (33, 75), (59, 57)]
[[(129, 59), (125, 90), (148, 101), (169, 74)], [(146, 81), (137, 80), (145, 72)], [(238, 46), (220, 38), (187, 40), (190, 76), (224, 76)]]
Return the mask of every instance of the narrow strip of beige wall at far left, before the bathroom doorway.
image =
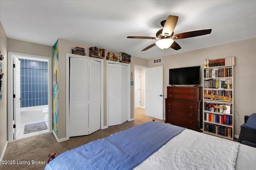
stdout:
[(0, 158), (3, 156), (4, 147), (7, 144), (7, 37), (0, 22), (0, 51), (4, 56), (2, 63), (2, 100), (0, 100)]

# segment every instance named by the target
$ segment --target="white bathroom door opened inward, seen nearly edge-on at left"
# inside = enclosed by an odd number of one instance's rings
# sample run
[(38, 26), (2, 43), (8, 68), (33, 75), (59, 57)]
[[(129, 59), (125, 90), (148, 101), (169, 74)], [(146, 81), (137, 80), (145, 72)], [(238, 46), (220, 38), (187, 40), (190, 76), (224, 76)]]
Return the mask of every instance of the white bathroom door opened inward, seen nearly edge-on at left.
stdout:
[(15, 94), (13, 99), (13, 124), (15, 125), (14, 139), (16, 139), (20, 133), (20, 61), (17, 57), (13, 59), (15, 64), (15, 68), (13, 68), (13, 94)]

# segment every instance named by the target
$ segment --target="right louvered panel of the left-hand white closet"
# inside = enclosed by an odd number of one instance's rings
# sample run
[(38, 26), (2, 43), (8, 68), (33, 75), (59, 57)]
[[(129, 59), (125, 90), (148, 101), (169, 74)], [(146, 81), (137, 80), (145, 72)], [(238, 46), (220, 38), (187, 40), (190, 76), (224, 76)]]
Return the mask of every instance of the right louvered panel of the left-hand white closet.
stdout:
[(89, 134), (100, 129), (100, 62), (90, 60), (89, 66)]

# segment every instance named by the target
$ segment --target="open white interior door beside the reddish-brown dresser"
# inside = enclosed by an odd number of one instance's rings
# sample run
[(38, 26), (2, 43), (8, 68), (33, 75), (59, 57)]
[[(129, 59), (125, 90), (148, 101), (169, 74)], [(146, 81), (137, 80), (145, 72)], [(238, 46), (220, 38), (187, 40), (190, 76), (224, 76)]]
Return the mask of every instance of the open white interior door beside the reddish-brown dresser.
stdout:
[(146, 68), (146, 115), (163, 119), (163, 66)]

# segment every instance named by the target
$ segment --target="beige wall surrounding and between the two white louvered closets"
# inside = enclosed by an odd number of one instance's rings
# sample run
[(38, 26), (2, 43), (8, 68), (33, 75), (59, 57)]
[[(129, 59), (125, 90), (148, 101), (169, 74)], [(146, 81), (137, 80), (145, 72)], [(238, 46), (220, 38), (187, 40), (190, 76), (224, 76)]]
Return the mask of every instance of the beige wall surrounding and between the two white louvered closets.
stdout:
[[(59, 139), (62, 139), (66, 137), (66, 53), (72, 53), (72, 48), (78, 46), (78, 47), (83, 47), (85, 48), (85, 53), (86, 56), (89, 56), (89, 48), (91, 46), (85, 45), (82, 43), (76, 43), (64, 39), (59, 39), (58, 40), (58, 46), (59, 46)], [(103, 47), (98, 47), (98, 48), (103, 48)], [(115, 51), (108, 51), (106, 49), (105, 51), (105, 58), (103, 59), (104, 61), (104, 89), (103, 89), (103, 95), (104, 95), (104, 126), (107, 125), (107, 106), (106, 106), (106, 94), (107, 94), (107, 86), (106, 86), (106, 55), (108, 52), (112, 52), (116, 55), (119, 54), (119, 52)], [(131, 71), (133, 70), (133, 65), (138, 64), (142, 66), (147, 65), (147, 60), (145, 59), (140, 59), (138, 57), (131, 57), (131, 63), (130, 63), (130, 69)], [(133, 73), (134, 74), (134, 73)], [(134, 118), (133, 110), (134, 110), (134, 103), (133, 103), (133, 98), (134, 94), (133, 91), (131, 93), (131, 119)]]

